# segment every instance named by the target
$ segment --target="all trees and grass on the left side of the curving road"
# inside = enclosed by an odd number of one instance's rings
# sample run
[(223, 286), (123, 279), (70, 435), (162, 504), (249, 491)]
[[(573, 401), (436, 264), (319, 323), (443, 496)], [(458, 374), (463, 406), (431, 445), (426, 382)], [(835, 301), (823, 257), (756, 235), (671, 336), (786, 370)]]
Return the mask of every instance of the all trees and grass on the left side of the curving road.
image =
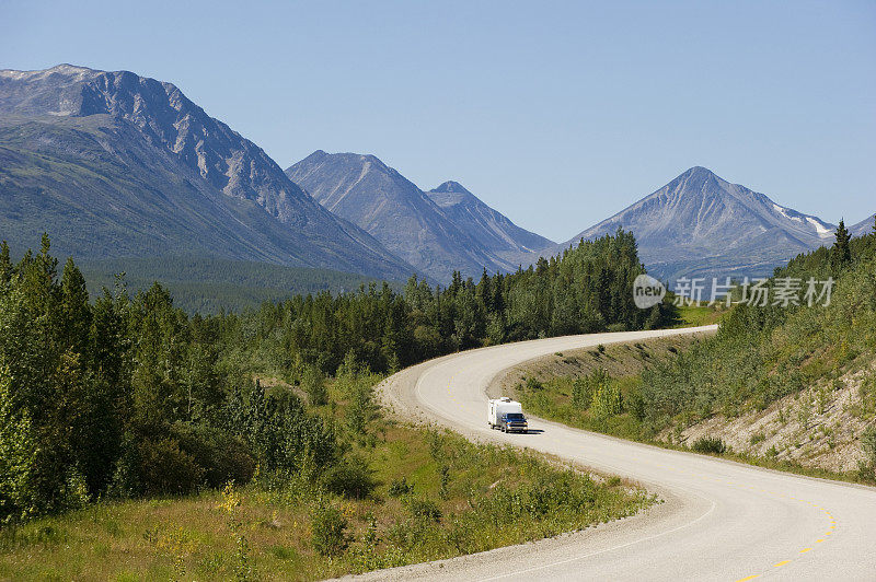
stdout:
[(630, 233), (477, 283), (412, 279), (404, 293), (371, 284), (212, 316), (189, 316), (158, 283), (129, 293), (119, 279), (92, 298), (49, 248), (46, 236), (13, 261), (0, 246), (0, 577), (227, 579), (283, 562), (312, 578), (648, 502), (396, 427), (371, 401), (385, 373), (450, 351), (673, 322), (671, 305), (633, 305)]

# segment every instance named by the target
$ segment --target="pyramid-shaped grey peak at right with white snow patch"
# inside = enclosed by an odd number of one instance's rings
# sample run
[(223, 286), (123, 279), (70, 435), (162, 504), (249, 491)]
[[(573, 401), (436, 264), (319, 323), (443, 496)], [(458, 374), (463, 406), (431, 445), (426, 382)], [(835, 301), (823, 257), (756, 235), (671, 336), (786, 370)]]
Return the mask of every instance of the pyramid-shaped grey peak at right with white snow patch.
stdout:
[(671, 283), (772, 275), (799, 253), (831, 243), (835, 225), (696, 166), (561, 247), (618, 228), (633, 232), (648, 272)]

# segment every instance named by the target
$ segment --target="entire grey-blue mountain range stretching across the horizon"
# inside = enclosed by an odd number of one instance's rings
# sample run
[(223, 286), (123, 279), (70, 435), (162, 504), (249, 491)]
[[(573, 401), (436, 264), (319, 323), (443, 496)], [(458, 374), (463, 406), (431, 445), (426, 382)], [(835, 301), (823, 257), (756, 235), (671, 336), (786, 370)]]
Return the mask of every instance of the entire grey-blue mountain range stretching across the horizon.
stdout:
[[(648, 271), (671, 282), (769, 275), (831, 244), (835, 225), (695, 166), (556, 244), (458, 182), (420, 189), (374, 155), (318, 150), (283, 171), (171, 83), (70, 65), (0, 71), (0, 237), (16, 252), (47, 231), (56, 254), (93, 269), (137, 257), (152, 261), (130, 261), (143, 278), (170, 276), (155, 267), (166, 264), (177, 281), (182, 265), (216, 277), (233, 261), (246, 272), (270, 264), (356, 273), (311, 278), (343, 287), (356, 276), (447, 282), (454, 270), (512, 271), (619, 228), (635, 234)], [(301, 273), (284, 275), (285, 287)]]

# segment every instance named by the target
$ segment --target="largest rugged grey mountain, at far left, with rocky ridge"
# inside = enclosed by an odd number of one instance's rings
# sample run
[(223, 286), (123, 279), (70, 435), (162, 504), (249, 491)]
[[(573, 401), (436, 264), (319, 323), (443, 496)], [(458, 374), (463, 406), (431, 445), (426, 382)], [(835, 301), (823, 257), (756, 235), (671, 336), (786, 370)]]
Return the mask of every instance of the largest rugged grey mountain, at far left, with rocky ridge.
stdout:
[(79, 258), (413, 270), (177, 88), (127, 71), (0, 71), (0, 236), (16, 249), (49, 232)]

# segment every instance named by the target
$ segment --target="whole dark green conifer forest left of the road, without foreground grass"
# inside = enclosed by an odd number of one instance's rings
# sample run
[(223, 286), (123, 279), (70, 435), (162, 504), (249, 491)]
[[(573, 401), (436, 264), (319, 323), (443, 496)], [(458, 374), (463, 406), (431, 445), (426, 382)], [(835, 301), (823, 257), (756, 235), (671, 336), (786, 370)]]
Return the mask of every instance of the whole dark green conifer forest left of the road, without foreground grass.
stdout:
[[(344, 463), (332, 421), (311, 408), (325, 375), (387, 373), (477, 346), (671, 323), (633, 304), (644, 272), (618, 231), (476, 283), (412, 278), (295, 296), (241, 314), (188, 316), (159, 283), (90, 298), (44, 236), (19, 261), (0, 247), (0, 523), (105, 497), (175, 494)], [(270, 373), (309, 395), (266, 391)], [(361, 424), (368, 395), (354, 398)], [(361, 401), (359, 401), (361, 400)]]

